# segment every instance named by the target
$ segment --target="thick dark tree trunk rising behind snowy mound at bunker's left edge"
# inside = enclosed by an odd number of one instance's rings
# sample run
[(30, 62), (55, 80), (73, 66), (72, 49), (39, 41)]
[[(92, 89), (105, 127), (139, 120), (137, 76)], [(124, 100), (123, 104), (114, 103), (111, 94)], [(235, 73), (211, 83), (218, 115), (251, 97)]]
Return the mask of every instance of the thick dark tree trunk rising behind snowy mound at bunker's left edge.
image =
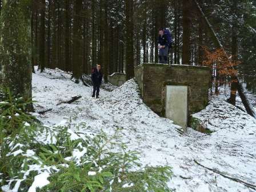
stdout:
[(134, 53), (133, 53), (133, 2), (125, 0), (125, 24), (126, 24), (126, 77), (134, 77)]

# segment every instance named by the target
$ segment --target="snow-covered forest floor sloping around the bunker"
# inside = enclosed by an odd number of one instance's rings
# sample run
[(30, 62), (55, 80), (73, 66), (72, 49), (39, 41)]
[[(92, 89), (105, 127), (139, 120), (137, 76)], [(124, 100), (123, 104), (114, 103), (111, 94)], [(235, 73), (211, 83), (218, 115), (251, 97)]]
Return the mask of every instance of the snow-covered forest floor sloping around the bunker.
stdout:
[[(82, 98), (57, 106), (76, 95)], [(256, 185), (256, 120), (222, 97), (213, 97), (205, 110), (194, 114), (215, 131), (208, 135), (193, 129), (181, 134), (179, 126), (142, 102), (134, 80), (111, 92), (101, 89), (100, 98), (94, 99), (91, 87), (75, 84), (69, 74), (47, 70), (33, 74), (33, 96), (37, 111), (53, 108), (43, 115), (35, 113), (45, 125), (72, 119), (86, 123), (86, 129), (79, 131), (113, 134), (120, 129), (120, 140), (141, 152), (144, 165), (173, 167), (169, 182), (173, 191), (254, 191), (194, 162)]]

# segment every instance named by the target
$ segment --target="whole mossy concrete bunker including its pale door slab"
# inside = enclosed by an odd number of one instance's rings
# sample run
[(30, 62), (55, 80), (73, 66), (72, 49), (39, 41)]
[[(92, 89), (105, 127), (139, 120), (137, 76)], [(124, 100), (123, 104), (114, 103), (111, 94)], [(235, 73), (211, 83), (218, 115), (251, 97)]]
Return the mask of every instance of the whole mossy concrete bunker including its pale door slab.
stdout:
[(205, 109), (209, 101), (210, 77), (209, 67), (204, 66), (142, 63), (135, 67), (143, 102), (184, 130), (190, 114)]

